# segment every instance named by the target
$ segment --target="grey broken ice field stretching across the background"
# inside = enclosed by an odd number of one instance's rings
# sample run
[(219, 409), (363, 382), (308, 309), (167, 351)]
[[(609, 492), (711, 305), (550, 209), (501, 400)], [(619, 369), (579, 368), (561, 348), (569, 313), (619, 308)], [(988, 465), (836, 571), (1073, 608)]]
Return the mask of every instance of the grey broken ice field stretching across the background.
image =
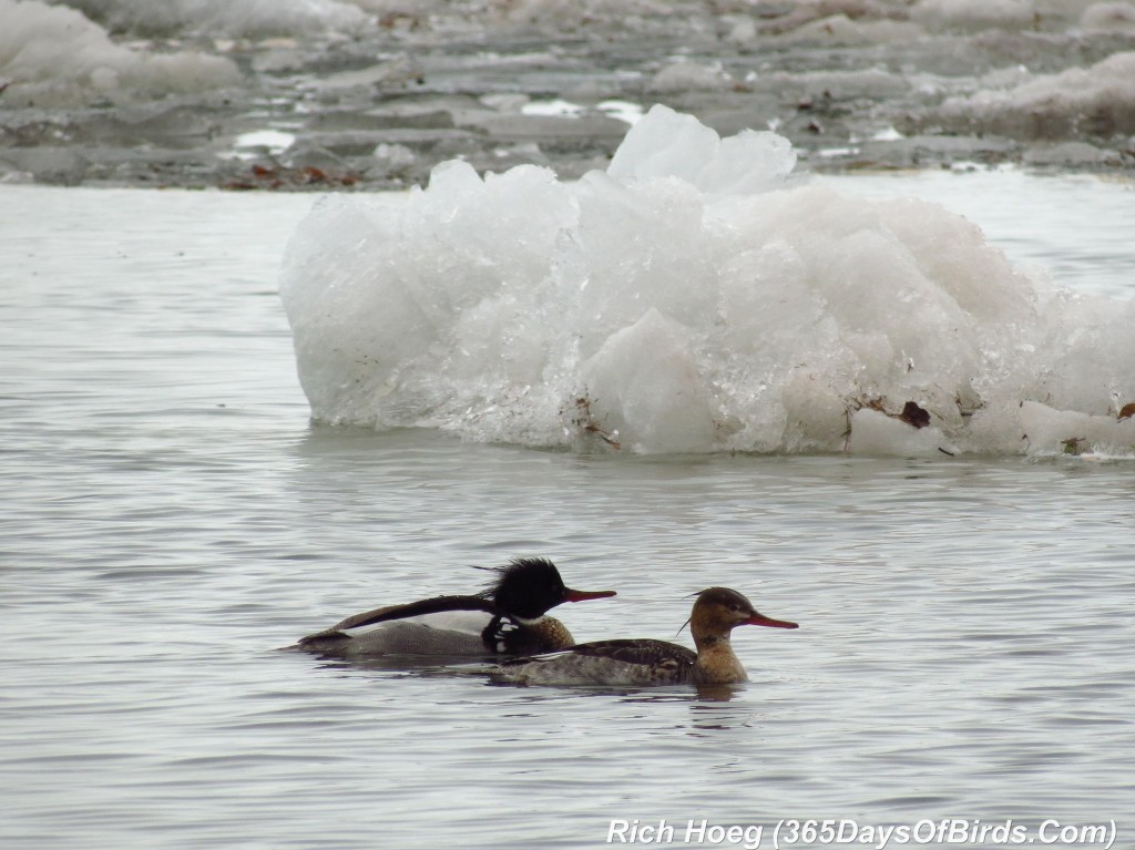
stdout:
[(1129, 3), (70, 5), (91, 19), (0, 1), (7, 179), (400, 187), (454, 157), (573, 178), (656, 102), (774, 128), (806, 169), (1135, 162)]

